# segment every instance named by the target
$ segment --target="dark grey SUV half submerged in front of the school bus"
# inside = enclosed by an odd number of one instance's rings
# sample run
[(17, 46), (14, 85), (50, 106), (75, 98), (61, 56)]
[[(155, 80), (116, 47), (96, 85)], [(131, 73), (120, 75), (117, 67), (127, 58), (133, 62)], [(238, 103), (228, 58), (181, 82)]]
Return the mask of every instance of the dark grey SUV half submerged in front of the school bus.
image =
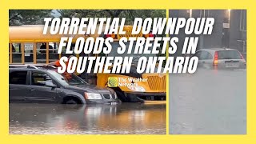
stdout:
[(88, 104), (120, 102), (114, 90), (89, 85), (53, 66), (9, 66), (10, 102)]

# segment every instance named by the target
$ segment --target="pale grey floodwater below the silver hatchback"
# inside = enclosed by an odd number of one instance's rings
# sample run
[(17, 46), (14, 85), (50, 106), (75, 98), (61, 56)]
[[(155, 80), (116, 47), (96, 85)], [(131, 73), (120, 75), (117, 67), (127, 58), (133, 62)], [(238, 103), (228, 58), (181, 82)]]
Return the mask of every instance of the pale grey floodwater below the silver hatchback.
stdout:
[(246, 70), (170, 74), (170, 134), (246, 134)]

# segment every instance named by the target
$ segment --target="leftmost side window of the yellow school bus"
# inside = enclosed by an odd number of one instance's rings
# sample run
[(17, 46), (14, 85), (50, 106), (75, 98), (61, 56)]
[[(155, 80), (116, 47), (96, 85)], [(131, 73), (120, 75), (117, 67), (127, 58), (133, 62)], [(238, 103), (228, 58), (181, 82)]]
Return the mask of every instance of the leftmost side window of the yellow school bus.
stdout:
[(12, 43), (12, 62), (22, 63), (22, 46), (21, 43)]

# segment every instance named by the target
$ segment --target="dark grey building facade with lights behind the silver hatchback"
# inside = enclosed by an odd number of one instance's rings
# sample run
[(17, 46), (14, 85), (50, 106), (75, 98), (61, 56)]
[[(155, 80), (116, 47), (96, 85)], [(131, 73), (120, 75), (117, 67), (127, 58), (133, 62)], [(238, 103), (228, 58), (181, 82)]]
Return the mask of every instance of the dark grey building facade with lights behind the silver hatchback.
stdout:
[[(226, 47), (246, 54), (246, 10), (170, 10), (170, 18), (214, 18), (211, 35), (199, 35), (198, 50), (202, 48)], [(180, 30), (178, 52), (181, 54), (184, 38), (187, 35)], [(198, 36), (191, 34), (190, 36)]]

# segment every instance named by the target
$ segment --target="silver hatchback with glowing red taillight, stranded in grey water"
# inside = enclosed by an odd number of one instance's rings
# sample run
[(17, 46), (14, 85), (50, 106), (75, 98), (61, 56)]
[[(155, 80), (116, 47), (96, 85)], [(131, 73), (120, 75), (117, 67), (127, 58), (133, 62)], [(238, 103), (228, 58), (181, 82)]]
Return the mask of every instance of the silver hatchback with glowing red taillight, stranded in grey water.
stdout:
[(198, 67), (246, 69), (246, 60), (238, 50), (225, 48), (201, 49), (192, 56), (198, 57)]

